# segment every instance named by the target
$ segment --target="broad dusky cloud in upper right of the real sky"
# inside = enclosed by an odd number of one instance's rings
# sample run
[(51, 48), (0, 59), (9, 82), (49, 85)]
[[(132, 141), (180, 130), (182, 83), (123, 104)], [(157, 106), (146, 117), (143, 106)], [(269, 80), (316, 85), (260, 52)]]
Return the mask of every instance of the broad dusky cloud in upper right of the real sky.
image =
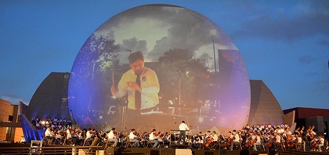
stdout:
[(258, 10), (244, 19), (242, 28), (233, 32), (232, 37), (294, 41), (318, 34), (329, 36), (329, 1), (303, 1), (284, 9), (254, 4), (254, 8), (257, 7)]

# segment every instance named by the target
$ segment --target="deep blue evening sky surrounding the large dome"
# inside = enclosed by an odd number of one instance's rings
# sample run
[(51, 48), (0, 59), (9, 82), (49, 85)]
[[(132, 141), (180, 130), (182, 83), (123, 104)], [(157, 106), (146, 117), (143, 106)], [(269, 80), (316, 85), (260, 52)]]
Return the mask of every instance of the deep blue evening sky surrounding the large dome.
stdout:
[(50, 72), (70, 72), (108, 18), (147, 4), (196, 11), (239, 48), (251, 80), (282, 109), (329, 109), (329, 1), (1, 1), (0, 99), (28, 103)]

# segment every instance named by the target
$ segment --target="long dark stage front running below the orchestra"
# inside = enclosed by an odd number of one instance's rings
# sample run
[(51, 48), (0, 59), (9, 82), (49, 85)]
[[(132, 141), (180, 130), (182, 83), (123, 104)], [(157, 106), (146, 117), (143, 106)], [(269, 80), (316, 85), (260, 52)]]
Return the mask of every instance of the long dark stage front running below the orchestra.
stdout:
[[(119, 147), (100, 147), (100, 146), (48, 146), (48, 147), (30, 147), (30, 145), (4, 145), (0, 144), (0, 154), (144, 154), (144, 155), (239, 155), (239, 150), (198, 150), (187, 148), (119, 148)], [(310, 155), (310, 154), (329, 154), (329, 152), (310, 152), (310, 151), (249, 151), (249, 154), (260, 155)]]

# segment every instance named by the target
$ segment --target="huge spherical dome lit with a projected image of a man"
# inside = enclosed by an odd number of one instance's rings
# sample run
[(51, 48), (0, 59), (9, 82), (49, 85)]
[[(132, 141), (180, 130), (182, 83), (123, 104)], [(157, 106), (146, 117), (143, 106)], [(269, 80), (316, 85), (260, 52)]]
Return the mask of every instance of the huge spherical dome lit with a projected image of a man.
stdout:
[(197, 131), (240, 129), (250, 83), (239, 50), (207, 17), (146, 5), (87, 38), (72, 66), (68, 106), (80, 127), (99, 130), (169, 131), (182, 121)]

